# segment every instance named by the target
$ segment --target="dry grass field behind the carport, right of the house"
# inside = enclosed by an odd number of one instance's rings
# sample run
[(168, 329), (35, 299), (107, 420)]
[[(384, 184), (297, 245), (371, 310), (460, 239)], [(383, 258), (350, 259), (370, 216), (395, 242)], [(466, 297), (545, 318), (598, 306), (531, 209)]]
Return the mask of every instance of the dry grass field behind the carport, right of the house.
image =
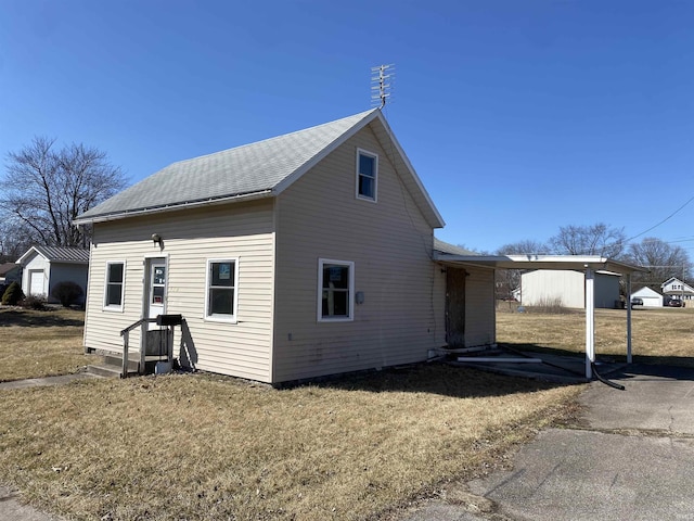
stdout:
[[(509, 303), (498, 307), (499, 343), (534, 351), (586, 352), (586, 318), (582, 310), (542, 314), (532, 313), (532, 308), (528, 313), (509, 313)], [(631, 316), (634, 361), (694, 367), (694, 308), (637, 308)], [(626, 353), (627, 312), (596, 309), (596, 356), (624, 359)]]

